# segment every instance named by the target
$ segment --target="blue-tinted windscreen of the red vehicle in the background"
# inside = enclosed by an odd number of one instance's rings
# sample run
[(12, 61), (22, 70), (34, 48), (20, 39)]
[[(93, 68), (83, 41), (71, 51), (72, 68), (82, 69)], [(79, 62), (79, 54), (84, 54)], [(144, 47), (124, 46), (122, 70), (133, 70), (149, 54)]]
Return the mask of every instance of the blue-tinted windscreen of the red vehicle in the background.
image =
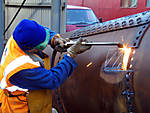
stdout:
[(67, 9), (68, 25), (87, 25), (98, 22), (97, 17), (91, 9)]

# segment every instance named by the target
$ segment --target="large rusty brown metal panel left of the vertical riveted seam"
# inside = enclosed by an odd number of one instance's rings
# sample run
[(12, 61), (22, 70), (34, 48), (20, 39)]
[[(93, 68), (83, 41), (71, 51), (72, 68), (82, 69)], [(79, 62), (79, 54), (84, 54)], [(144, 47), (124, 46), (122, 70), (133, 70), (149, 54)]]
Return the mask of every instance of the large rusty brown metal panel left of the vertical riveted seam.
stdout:
[[(130, 44), (139, 30), (140, 26), (96, 34), (84, 38), (91, 41), (118, 41), (123, 44)], [(72, 33), (73, 32), (66, 33), (62, 36), (69, 37)], [(148, 42), (146, 41), (146, 43)], [(118, 48), (115, 46), (93, 46), (89, 51), (75, 58), (78, 63), (77, 69), (58, 90), (58, 96), (67, 113), (121, 113), (127, 111), (120, 90), (120, 83), (124, 78), (124, 74), (105, 73), (103, 70), (106, 55), (111, 49), (116, 50)], [(90, 62), (92, 62), (92, 65), (87, 67)], [(135, 78), (135, 80), (136, 79), (140, 82), (139, 79), (141, 78)], [(137, 83), (135, 83), (135, 87), (137, 89), (135, 90), (137, 92), (138, 90), (142, 90), (142, 88), (138, 86), (140, 84), (136, 84)], [(142, 92), (139, 91), (137, 93), (138, 95), (136, 95), (140, 97), (138, 98), (139, 100), (136, 99), (140, 106), (139, 109), (142, 108), (140, 103), (143, 102), (141, 93)], [(149, 103), (148, 100), (147, 103)], [(58, 103), (55, 103), (55, 106), (59, 106)]]

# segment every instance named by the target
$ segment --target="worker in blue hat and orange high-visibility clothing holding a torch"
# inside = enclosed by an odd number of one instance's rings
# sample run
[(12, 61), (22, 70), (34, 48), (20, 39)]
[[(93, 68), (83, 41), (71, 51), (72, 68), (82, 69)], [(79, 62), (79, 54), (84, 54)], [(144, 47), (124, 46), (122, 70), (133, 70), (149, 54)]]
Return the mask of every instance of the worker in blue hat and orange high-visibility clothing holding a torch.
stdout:
[(63, 48), (66, 39), (36, 21), (23, 19), (9, 38), (0, 62), (2, 113), (29, 113), (27, 95), (30, 90), (58, 88), (76, 68), (73, 58), (90, 48), (82, 46), (81, 41), (77, 40), (63, 59), (47, 70), (39, 53), (48, 44)]

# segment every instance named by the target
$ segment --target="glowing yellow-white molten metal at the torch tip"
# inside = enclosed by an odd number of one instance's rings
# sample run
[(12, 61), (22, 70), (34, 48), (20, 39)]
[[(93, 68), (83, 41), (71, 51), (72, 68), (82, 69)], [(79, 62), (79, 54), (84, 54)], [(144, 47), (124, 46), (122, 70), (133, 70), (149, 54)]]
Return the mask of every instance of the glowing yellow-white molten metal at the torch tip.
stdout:
[(122, 70), (127, 70), (127, 65), (128, 65), (128, 60), (129, 60), (129, 56), (131, 53), (131, 48), (127, 47), (127, 46), (123, 46), (122, 51), (124, 53), (123, 55), (123, 62), (122, 62)]

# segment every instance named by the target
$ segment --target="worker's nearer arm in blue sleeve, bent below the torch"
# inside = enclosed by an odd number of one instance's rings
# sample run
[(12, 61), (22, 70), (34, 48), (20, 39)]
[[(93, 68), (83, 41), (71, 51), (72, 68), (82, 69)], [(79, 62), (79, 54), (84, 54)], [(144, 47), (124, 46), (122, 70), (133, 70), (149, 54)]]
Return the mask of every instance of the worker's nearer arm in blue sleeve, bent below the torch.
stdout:
[(19, 71), (10, 77), (10, 83), (25, 89), (56, 89), (76, 68), (76, 62), (69, 56), (64, 58), (50, 70), (42, 67)]

